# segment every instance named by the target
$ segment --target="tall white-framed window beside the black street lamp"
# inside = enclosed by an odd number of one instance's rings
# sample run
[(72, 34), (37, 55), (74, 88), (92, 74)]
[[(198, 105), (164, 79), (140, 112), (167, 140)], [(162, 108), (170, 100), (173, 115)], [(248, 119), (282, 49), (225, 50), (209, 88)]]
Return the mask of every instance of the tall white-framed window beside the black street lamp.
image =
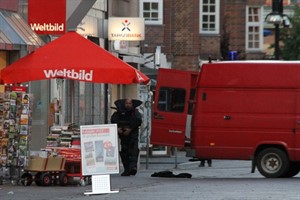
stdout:
[(261, 7), (247, 7), (246, 13), (246, 49), (262, 50), (263, 17)]

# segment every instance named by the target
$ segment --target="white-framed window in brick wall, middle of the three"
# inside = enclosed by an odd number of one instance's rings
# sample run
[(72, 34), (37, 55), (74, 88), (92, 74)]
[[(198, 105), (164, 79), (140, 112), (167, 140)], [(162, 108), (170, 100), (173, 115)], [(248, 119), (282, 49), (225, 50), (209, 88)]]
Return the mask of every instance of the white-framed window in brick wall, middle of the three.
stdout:
[(218, 34), (220, 0), (200, 0), (200, 33)]

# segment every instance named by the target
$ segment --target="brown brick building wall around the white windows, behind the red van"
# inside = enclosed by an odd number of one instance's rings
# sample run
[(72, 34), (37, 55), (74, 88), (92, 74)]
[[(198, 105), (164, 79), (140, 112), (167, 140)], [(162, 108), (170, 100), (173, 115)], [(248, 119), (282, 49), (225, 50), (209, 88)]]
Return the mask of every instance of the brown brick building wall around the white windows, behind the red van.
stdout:
[[(199, 60), (226, 59), (238, 51), (238, 59), (263, 59), (263, 52), (246, 52), (246, 6), (264, 5), (264, 0), (221, 0), (220, 33), (199, 33), (199, 0), (164, 0), (163, 25), (146, 25), (144, 53), (162, 47), (172, 68), (197, 70)], [(223, 52), (223, 54), (222, 54)], [(224, 53), (225, 52), (225, 53)]]

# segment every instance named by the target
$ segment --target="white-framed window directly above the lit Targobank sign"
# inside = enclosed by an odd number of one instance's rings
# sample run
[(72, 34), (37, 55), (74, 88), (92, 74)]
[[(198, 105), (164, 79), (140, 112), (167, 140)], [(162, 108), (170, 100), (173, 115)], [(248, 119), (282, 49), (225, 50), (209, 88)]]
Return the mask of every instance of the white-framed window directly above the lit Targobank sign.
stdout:
[(145, 24), (162, 24), (163, 0), (141, 0), (140, 17), (145, 19)]

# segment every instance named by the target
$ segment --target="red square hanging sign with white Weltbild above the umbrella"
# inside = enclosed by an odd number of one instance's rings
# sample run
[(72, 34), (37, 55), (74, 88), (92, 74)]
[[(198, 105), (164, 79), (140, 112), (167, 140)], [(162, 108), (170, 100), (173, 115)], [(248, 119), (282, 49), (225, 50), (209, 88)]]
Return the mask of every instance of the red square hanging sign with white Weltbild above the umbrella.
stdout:
[(66, 8), (66, 0), (28, 0), (28, 24), (37, 34), (64, 34)]

